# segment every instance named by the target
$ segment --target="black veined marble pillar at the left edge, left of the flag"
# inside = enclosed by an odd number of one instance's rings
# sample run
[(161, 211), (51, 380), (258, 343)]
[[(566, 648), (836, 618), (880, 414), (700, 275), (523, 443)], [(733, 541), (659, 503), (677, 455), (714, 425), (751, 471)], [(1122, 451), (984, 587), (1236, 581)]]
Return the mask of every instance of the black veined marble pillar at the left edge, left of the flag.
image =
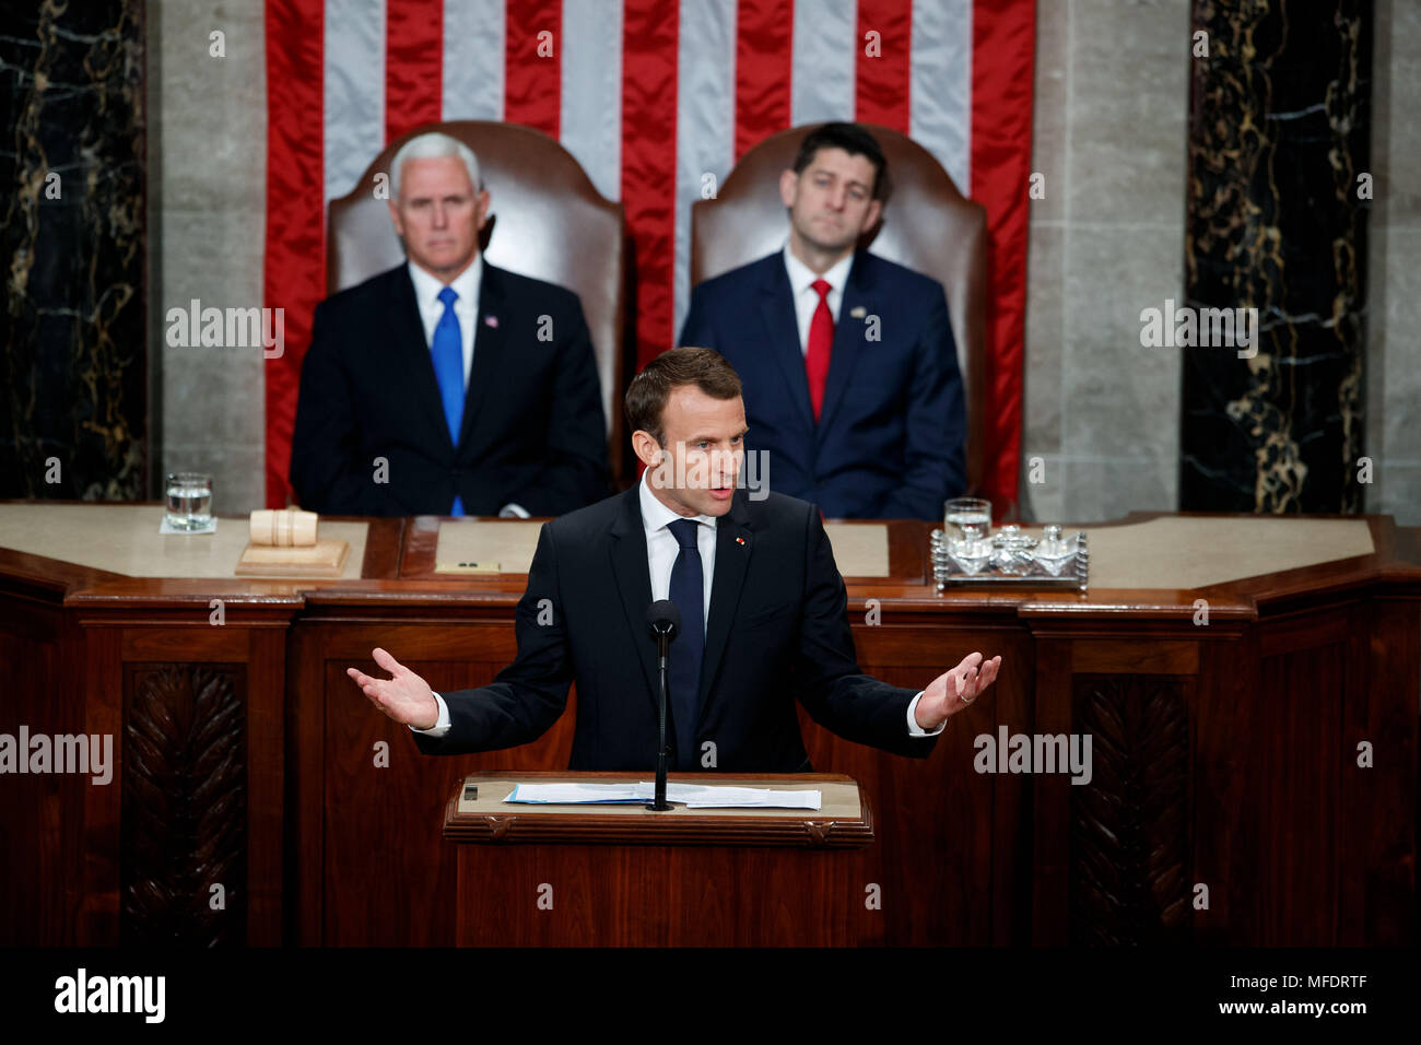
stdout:
[(142, 0), (4, 7), (0, 498), (142, 498)]

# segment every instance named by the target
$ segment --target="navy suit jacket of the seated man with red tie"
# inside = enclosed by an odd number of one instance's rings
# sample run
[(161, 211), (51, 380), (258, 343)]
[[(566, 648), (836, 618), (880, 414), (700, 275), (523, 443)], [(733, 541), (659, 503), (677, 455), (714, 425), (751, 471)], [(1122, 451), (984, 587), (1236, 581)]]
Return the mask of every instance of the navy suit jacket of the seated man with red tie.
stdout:
[(941, 519), (966, 485), (962, 378), (936, 280), (854, 256), (817, 425), (780, 252), (699, 284), (679, 344), (715, 348), (740, 375), (746, 449), (769, 451), (773, 491), (831, 519)]

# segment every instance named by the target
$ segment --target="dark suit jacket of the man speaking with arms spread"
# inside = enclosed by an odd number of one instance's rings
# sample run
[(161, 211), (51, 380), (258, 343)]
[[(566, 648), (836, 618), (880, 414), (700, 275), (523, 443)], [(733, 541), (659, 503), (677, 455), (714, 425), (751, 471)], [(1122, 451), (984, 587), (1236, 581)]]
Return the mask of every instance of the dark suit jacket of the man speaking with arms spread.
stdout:
[[(419, 749), (453, 755), (537, 739), (563, 714), (576, 681), (568, 769), (654, 771), (658, 678), (649, 604), (637, 486), (546, 523), (517, 607), (517, 660), (489, 685), (442, 692), (450, 729), (439, 739), (414, 734)], [(716, 526), (696, 765), (702, 744), (713, 741), (718, 771), (809, 772), (796, 700), (851, 741), (914, 758), (932, 752), (936, 736), (908, 735), (917, 691), (858, 671), (845, 606), (818, 510), (777, 493), (749, 500), (737, 491)]]

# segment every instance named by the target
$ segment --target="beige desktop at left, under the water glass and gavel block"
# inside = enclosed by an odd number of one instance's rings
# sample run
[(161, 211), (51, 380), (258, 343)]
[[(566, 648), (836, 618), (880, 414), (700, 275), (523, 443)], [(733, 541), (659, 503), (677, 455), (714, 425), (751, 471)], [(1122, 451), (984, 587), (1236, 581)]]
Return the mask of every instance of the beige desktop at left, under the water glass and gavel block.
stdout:
[[(0, 505), (0, 547), (129, 577), (234, 577), (247, 519), (219, 519), (216, 533), (165, 535), (162, 505)], [(350, 542), (341, 580), (358, 580), (364, 522), (320, 523), (323, 539)], [(281, 574), (290, 579), (290, 574)]]

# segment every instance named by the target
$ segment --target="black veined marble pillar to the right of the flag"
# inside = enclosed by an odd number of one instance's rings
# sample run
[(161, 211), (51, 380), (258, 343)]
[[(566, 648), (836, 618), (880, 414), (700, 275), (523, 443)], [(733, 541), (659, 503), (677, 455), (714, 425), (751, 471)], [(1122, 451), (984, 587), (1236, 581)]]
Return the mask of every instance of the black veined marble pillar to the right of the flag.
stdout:
[(1371, 3), (1194, 0), (1192, 28), (1185, 304), (1259, 336), (1182, 348), (1179, 508), (1363, 510)]

